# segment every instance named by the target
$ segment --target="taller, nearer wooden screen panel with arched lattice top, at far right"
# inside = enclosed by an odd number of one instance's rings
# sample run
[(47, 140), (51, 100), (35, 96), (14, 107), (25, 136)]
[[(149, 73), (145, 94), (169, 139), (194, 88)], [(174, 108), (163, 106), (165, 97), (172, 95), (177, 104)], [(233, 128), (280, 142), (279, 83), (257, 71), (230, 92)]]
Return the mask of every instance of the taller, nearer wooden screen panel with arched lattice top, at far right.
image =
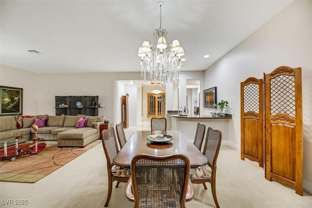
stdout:
[(265, 176), (302, 187), (301, 68), (281, 66), (265, 75)]

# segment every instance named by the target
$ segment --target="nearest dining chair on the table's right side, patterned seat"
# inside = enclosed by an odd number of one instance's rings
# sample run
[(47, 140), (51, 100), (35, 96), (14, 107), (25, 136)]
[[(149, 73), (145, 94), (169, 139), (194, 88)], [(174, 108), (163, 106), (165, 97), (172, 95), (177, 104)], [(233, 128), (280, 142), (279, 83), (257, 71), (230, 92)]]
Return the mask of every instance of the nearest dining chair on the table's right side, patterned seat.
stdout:
[(219, 130), (214, 130), (208, 127), (206, 141), (204, 145), (203, 154), (206, 156), (208, 163), (204, 166), (191, 168), (190, 180), (194, 184), (203, 184), (206, 187), (206, 182), (211, 183), (211, 190), (215, 201), (215, 206), (219, 208), (215, 192), (215, 177), (216, 177), (216, 160), (218, 158), (222, 134)]

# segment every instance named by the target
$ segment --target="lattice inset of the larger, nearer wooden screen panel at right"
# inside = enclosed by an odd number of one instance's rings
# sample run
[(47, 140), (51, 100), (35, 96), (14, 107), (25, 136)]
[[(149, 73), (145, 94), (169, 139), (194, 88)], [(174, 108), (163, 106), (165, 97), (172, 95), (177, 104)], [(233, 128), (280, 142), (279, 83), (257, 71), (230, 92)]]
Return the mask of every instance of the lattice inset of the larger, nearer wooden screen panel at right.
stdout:
[(271, 79), (271, 115), (295, 116), (294, 76), (280, 75)]

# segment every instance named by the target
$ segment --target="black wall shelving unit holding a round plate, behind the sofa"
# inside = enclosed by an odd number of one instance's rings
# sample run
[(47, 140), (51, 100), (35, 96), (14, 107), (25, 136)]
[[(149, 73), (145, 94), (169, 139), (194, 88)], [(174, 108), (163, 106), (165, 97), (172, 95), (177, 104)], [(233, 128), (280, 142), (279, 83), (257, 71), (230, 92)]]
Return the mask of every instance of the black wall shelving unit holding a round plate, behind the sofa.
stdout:
[[(78, 108), (76, 103), (81, 102), (82, 107)], [(67, 107), (60, 107), (59, 105)], [(55, 96), (56, 115), (98, 115), (98, 96)]]

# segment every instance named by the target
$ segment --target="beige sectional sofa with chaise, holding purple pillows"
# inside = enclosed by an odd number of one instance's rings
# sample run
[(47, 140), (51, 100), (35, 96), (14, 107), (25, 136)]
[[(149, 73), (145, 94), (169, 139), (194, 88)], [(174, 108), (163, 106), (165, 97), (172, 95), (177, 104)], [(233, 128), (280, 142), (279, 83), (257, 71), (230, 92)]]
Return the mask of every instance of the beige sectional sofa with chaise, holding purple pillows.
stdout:
[(17, 116), (0, 117), (0, 143), (7, 141), (8, 145), (15, 142), (15, 136), (26, 135), (24, 142), (36, 137), (36, 132), (31, 128), (31, 123), (35, 118), (43, 119), (47, 117), (46, 127), (39, 127), (37, 137), (43, 140), (57, 140), (59, 147), (84, 147), (100, 137), (100, 124), (104, 123), (104, 116), (85, 116), (88, 118), (86, 126), (76, 128), (79, 118), (83, 115), (36, 115), (32, 117), (19, 116), (20, 129), (16, 127)]

